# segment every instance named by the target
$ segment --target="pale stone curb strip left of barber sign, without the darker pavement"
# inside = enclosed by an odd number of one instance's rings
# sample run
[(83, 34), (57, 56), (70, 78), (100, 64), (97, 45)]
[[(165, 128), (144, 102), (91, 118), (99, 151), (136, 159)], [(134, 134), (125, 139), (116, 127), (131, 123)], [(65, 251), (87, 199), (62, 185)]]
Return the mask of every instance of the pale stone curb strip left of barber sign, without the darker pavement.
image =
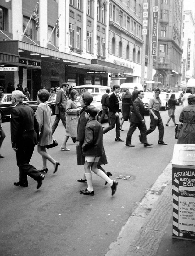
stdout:
[(105, 256), (154, 256), (170, 220), (171, 162), (155, 181), (122, 227)]

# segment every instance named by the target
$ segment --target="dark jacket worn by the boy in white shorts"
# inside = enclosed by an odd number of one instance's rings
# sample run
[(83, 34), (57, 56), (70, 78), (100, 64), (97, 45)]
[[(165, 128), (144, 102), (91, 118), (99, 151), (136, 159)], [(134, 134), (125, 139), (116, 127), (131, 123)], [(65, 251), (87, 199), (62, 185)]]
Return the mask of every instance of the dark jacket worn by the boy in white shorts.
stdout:
[(85, 141), (82, 145), (84, 156), (102, 156), (103, 128), (95, 117), (87, 121), (85, 126)]

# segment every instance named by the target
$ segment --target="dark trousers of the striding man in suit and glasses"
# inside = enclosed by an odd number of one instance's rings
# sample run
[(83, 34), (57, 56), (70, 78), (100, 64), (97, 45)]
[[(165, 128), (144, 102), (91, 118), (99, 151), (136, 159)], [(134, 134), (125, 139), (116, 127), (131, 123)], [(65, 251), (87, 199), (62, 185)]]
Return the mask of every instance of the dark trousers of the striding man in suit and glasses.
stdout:
[(142, 122), (140, 122), (140, 123), (131, 122), (128, 133), (127, 133), (127, 137), (126, 137), (126, 144), (131, 144), (131, 136), (134, 133), (136, 128), (138, 128), (140, 130), (142, 143), (147, 143), (146, 124), (142, 123)]

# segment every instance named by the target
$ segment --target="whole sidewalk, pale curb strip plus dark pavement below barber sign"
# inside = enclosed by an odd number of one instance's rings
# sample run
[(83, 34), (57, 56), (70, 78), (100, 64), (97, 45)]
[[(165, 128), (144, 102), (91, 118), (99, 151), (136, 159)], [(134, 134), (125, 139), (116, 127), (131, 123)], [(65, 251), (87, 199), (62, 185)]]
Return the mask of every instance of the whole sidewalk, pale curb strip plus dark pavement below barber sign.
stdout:
[(172, 238), (171, 162), (147, 192), (105, 256), (188, 256), (195, 241)]

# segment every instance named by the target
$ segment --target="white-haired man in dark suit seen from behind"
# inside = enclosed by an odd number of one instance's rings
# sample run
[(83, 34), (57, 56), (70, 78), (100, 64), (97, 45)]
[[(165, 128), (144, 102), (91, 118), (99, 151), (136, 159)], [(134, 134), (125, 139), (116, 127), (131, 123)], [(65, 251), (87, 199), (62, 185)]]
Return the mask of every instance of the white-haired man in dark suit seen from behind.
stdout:
[(33, 109), (22, 103), (23, 97), (23, 92), (19, 90), (12, 92), (12, 105), (15, 107), (11, 110), (11, 142), (19, 167), (19, 181), (14, 182), (14, 185), (28, 187), (28, 175), (37, 181), (39, 189), (45, 176), (29, 164), (34, 146), (37, 144), (39, 125)]

